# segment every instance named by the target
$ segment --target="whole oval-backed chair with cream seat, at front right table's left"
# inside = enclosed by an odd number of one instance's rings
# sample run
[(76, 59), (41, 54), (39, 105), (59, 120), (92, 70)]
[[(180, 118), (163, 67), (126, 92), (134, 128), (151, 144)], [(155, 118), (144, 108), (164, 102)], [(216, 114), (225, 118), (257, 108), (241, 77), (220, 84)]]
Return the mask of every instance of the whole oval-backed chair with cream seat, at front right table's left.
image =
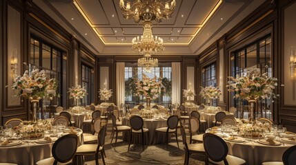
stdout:
[(221, 137), (213, 133), (204, 134), (204, 150), (206, 151), (205, 164), (240, 165), (246, 164), (244, 159), (228, 155), (228, 146)]

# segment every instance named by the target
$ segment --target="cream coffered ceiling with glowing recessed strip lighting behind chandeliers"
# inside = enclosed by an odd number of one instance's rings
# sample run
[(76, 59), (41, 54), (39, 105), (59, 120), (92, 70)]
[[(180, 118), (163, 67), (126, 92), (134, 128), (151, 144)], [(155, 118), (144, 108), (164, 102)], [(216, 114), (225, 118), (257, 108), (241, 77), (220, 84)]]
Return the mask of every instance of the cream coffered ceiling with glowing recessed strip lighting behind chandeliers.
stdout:
[[(129, 0), (132, 1), (132, 0)], [(124, 19), (119, 0), (34, 0), (34, 3), (97, 55), (135, 54), (131, 41), (141, 23)], [(171, 19), (153, 22), (168, 55), (197, 55), (264, 0), (177, 0)]]

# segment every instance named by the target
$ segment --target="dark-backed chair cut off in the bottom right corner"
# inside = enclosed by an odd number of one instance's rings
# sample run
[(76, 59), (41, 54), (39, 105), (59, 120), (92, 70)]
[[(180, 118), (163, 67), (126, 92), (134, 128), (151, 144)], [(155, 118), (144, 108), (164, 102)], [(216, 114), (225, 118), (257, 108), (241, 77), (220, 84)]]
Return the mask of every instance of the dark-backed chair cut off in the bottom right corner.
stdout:
[(283, 162), (264, 162), (262, 165), (294, 165), (296, 164), (296, 145), (288, 148), (282, 157)]

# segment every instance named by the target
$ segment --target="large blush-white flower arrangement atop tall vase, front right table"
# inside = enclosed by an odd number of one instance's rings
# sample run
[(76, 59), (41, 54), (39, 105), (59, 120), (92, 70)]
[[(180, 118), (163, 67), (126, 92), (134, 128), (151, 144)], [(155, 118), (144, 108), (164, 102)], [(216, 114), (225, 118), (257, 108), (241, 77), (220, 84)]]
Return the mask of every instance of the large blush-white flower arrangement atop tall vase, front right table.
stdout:
[[(266, 66), (268, 67), (268, 66)], [(279, 95), (275, 95), (274, 89), (277, 86), (277, 78), (268, 76), (268, 73), (260, 74), (260, 69), (250, 69), (244, 75), (237, 75), (235, 78), (228, 77), (229, 87), (228, 91), (234, 91), (235, 96), (233, 98), (277, 98)], [(282, 85), (284, 86), (284, 85)]]

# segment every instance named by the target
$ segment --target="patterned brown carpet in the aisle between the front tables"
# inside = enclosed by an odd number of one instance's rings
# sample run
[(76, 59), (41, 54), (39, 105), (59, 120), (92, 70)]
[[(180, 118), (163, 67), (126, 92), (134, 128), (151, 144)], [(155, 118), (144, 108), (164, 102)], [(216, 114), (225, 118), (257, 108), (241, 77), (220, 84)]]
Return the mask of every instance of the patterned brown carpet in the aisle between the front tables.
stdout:
[[(121, 133), (119, 133), (119, 141), (117, 146), (114, 145), (113, 140), (112, 146), (110, 145), (110, 127), (108, 126), (108, 134), (106, 135), (106, 164), (122, 164), (122, 165), (137, 165), (137, 164), (184, 164), (185, 151), (181, 142), (181, 135), (179, 134), (178, 140), (180, 148), (177, 147), (175, 138), (172, 138), (166, 150), (166, 144), (156, 144), (145, 146), (145, 150), (142, 150), (141, 144), (133, 144), (128, 152), (128, 142), (123, 142), (121, 139)], [(86, 157), (87, 161), (85, 164), (95, 164), (94, 157)], [(99, 159), (99, 164), (103, 164), (102, 160)], [(192, 155), (190, 157), (189, 164), (204, 164), (204, 156)]]

